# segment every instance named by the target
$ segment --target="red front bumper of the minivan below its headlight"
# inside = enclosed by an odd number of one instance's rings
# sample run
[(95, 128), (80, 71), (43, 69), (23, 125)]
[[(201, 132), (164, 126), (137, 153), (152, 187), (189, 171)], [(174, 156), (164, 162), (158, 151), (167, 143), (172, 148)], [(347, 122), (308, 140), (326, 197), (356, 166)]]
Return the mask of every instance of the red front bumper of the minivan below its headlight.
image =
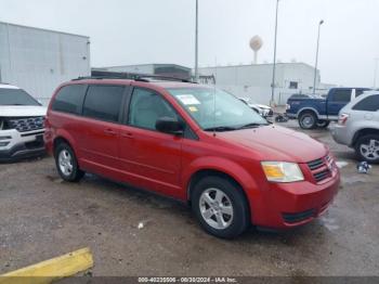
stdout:
[[(252, 223), (275, 230), (309, 223), (327, 210), (339, 184), (340, 173), (337, 168), (321, 184), (310, 181), (271, 183), (263, 197), (265, 206), (256, 206), (252, 211)], [(254, 208), (253, 204), (251, 206)]]

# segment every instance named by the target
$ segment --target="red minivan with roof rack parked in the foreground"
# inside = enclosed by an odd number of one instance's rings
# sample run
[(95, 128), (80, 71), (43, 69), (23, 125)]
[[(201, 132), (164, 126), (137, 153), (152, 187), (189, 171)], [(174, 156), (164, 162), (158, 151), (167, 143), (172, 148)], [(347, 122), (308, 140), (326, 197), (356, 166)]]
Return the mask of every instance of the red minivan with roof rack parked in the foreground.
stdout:
[(340, 173), (326, 145), (267, 122), (232, 94), (191, 82), (82, 78), (55, 91), (44, 141), (66, 181), (93, 172), (187, 202), (235, 237), (323, 214)]

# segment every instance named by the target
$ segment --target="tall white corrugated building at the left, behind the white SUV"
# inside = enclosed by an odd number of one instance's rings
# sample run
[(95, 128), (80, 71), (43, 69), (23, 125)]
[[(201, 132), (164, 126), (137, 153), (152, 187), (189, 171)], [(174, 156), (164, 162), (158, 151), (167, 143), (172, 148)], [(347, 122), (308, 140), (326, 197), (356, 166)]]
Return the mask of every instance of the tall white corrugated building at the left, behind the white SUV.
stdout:
[(0, 81), (47, 104), (62, 82), (89, 76), (90, 39), (0, 22)]

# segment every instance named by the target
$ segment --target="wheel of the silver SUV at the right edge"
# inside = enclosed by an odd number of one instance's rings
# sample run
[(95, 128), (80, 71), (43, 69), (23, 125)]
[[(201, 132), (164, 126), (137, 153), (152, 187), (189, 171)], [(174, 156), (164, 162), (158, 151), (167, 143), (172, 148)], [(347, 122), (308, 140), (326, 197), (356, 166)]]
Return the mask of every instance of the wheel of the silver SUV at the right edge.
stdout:
[(355, 153), (361, 160), (379, 164), (379, 134), (360, 137), (355, 143)]

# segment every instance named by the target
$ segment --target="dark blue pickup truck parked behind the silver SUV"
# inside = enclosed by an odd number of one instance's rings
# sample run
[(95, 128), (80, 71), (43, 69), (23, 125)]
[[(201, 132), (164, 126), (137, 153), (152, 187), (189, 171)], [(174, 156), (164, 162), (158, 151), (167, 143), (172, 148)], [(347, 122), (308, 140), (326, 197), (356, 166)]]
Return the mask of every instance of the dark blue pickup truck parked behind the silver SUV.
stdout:
[(288, 99), (287, 117), (299, 120), (302, 129), (326, 128), (338, 120), (339, 111), (367, 88), (332, 88), (327, 98)]

